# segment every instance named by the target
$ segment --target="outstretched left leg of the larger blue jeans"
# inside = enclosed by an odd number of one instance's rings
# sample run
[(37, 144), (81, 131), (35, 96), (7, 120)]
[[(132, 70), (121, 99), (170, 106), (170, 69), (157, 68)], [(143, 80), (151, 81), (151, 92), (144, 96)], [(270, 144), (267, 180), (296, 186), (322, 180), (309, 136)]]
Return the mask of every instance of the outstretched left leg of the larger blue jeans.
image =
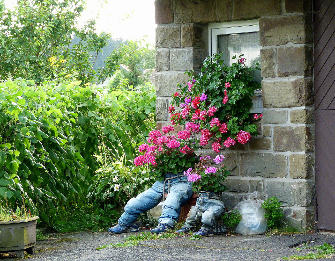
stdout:
[(140, 213), (143, 213), (159, 204), (162, 199), (163, 183), (156, 181), (153, 186), (146, 191), (130, 199), (125, 208), (124, 213), (119, 219), (122, 226), (130, 226), (133, 224)]

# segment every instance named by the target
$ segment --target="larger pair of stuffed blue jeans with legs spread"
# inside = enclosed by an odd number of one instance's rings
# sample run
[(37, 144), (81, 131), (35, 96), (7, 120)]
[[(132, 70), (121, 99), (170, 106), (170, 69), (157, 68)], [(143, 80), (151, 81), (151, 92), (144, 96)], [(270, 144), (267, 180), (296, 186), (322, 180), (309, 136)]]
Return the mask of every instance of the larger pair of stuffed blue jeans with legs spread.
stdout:
[[(165, 174), (165, 178), (174, 177), (176, 174)], [(163, 181), (156, 181), (153, 186), (128, 201), (124, 208), (124, 213), (119, 219), (122, 226), (133, 224), (140, 213), (143, 213), (159, 204), (163, 196)], [(163, 202), (162, 215), (159, 217), (159, 224), (165, 223), (174, 227), (179, 219), (179, 214), (183, 205), (191, 198), (193, 191), (191, 182), (183, 173), (177, 174), (177, 177), (170, 180), (170, 193), (167, 194)], [(168, 182), (165, 184), (165, 193), (169, 191)]]

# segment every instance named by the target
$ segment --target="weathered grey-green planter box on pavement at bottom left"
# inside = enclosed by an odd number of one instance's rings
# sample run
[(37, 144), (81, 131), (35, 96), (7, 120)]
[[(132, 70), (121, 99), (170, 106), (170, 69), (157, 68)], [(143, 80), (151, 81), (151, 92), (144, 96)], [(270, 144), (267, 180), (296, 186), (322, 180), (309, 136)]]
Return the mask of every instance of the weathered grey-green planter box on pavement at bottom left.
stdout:
[(33, 255), (36, 245), (38, 216), (25, 220), (0, 222), (0, 252), (15, 252), (24, 257), (23, 251)]

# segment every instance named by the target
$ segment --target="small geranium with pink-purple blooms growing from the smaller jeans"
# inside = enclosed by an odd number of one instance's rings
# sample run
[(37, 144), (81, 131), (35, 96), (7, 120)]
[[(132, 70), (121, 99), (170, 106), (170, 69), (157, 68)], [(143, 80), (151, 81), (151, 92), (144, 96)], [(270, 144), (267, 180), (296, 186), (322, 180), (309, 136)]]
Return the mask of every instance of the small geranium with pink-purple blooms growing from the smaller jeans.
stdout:
[(220, 167), (211, 167), (211, 157), (200, 157), (200, 162), (195, 164), (194, 168), (184, 171), (184, 175), (188, 176), (188, 180), (192, 182), (194, 192), (213, 190), (214, 192), (223, 192), (225, 185), (223, 184), (227, 176), (230, 174), (222, 163), (225, 157), (217, 155), (213, 161)]

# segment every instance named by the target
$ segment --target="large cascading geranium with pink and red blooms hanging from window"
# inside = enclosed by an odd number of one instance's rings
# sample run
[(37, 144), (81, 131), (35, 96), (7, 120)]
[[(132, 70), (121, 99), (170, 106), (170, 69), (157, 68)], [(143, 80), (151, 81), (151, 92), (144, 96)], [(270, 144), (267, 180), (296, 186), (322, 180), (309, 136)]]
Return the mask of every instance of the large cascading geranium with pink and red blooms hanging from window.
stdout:
[[(199, 125), (199, 146), (213, 141), (215, 152), (236, 142), (246, 144), (251, 135), (258, 135), (257, 125), (250, 121), (251, 97), (261, 84), (254, 81), (254, 68), (247, 67), (240, 55), (231, 66), (226, 66), (221, 54), (206, 58), (200, 74), (189, 71), (191, 77), (185, 86), (172, 96), (169, 112), (173, 124), (193, 122)], [(178, 111), (176, 108), (180, 108)], [(262, 114), (255, 114), (259, 120)]]

